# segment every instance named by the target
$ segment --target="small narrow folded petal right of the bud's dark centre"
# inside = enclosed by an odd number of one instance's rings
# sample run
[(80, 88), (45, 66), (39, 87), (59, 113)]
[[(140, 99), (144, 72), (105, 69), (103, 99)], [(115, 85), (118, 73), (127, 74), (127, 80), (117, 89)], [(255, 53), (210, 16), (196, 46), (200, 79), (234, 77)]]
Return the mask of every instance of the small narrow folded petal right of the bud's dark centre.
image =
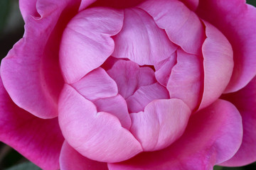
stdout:
[(156, 69), (156, 72), (155, 72), (156, 80), (159, 81), (159, 84), (163, 86), (167, 86), (169, 77), (171, 75), (171, 69), (174, 67), (176, 62), (177, 62), (177, 53), (174, 52), (166, 60), (154, 65)]

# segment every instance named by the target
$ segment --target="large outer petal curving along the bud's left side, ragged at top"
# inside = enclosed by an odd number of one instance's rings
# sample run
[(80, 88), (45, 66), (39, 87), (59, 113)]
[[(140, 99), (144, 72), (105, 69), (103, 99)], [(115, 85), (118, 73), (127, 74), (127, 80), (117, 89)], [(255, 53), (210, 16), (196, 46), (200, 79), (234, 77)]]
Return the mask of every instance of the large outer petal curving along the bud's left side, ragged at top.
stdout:
[[(26, 16), (24, 37), (1, 62), (1, 77), (16, 105), (40, 118), (58, 115), (63, 86), (58, 63), (61, 33), (80, 1), (21, 1)], [(22, 11), (22, 9), (21, 9)], [(27, 13), (26, 13), (26, 12)], [(30, 16), (34, 11), (38, 16)]]

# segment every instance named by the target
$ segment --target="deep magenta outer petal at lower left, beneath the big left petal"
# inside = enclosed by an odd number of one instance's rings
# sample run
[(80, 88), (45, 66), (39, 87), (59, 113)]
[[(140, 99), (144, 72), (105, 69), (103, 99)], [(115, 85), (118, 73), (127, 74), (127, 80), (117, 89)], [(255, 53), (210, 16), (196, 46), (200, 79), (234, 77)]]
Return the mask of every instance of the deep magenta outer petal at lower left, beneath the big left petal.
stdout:
[(43, 120), (11, 101), (0, 79), (0, 141), (14, 147), (42, 169), (59, 169), (63, 144), (56, 118)]

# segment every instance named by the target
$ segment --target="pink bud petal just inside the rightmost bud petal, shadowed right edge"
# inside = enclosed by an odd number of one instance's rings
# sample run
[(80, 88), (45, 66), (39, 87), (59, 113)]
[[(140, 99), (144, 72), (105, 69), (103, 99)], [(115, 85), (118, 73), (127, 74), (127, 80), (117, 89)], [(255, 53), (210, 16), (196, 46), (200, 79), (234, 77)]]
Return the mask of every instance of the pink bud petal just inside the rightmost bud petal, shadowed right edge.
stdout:
[(177, 50), (177, 64), (171, 70), (167, 89), (171, 98), (180, 98), (193, 111), (203, 92), (203, 59)]

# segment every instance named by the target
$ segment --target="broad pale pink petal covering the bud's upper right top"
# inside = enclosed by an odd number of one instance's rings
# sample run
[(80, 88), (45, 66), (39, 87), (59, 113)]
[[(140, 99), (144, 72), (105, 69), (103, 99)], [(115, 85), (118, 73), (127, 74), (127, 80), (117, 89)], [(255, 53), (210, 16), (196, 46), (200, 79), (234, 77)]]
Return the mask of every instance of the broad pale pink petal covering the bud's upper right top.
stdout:
[(201, 46), (206, 37), (203, 25), (196, 13), (181, 1), (149, 0), (140, 4), (139, 8), (148, 12), (159, 28), (166, 30), (172, 42), (188, 53), (201, 55)]

